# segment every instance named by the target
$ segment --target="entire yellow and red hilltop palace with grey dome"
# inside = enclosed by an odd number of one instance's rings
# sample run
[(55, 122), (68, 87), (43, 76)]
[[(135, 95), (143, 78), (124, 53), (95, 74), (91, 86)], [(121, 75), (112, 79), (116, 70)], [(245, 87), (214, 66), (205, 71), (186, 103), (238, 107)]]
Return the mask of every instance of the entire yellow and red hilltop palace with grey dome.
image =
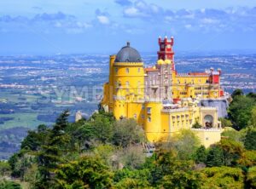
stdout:
[[(219, 103), (225, 100), (221, 70), (178, 73), (173, 42), (173, 37), (159, 37), (153, 67), (143, 66), (141, 55), (130, 43), (111, 55), (102, 107), (117, 119), (136, 119), (151, 142), (172, 137), (180, 129), (192, 129), (203, 145), (210, 146), (220, 140), (222, 130), (218, 121)], [(195, 123), (202, 128), (193, 129)]]

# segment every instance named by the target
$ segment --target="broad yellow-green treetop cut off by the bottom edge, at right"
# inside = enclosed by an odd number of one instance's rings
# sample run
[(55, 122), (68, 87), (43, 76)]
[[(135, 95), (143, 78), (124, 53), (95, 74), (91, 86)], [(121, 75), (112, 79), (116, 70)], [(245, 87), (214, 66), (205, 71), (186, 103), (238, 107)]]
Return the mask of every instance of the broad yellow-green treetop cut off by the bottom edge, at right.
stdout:
[(205, 176), (201, 188), (244, 188), (244, 175), (239, 168), (212, 167), (201, 170)]

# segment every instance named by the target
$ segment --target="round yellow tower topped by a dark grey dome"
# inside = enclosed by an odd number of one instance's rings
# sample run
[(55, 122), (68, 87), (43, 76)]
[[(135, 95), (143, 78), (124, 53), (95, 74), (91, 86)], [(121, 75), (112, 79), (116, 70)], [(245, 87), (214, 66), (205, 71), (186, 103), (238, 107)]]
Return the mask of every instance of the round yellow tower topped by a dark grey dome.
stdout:
[(113, 63), (113, 114), (119, 117), (138, 117), (131, 104), (144, 99), (143, 60), (137, 49), (128, 42), (116, 54)]

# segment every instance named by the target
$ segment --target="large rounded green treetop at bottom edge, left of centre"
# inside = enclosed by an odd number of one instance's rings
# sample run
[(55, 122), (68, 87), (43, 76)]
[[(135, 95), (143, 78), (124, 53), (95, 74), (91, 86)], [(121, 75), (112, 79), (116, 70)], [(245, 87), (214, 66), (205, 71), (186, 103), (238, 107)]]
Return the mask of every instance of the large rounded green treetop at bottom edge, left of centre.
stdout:
[(85, 156), (79, 161), (62, 164), (56, 171), (57, 188), (110, 188), (111, 173), (101, 159)]

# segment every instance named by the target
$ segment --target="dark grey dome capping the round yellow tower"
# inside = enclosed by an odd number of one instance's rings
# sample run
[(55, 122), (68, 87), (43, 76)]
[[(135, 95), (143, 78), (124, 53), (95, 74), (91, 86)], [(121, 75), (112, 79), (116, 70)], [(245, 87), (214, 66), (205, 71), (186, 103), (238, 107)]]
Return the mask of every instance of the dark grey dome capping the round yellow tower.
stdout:
[(142, 62), (141, 55), (137, 52), (137, 49), (130, 47), (130, 43), (127, 42), (127, 45), (119, 50), (119, 53), (116, 55), (114, 62)]

